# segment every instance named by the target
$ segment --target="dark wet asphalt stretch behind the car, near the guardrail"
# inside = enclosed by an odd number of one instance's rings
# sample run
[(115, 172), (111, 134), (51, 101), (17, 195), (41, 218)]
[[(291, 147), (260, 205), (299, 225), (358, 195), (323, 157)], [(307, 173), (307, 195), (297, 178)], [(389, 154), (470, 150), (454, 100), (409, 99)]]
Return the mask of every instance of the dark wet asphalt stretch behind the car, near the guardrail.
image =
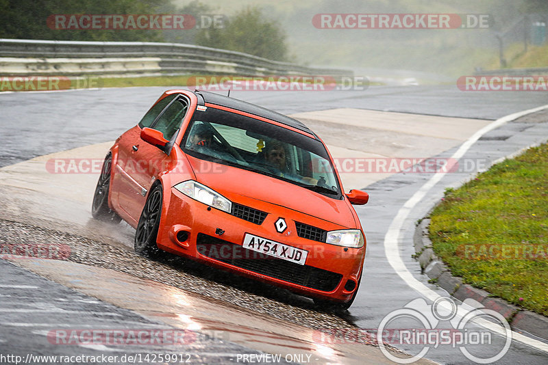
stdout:
[[(175, 87), (172, 87), (175, 88)], [(116, 139), (167, 87), (0, 95), (0, 167)], [(365, 91), (232, 92), (291, 114), (350, 107), (495, 120), (548, 103), (543, 92), (461, 92), (456, 86), (372, 86)]]

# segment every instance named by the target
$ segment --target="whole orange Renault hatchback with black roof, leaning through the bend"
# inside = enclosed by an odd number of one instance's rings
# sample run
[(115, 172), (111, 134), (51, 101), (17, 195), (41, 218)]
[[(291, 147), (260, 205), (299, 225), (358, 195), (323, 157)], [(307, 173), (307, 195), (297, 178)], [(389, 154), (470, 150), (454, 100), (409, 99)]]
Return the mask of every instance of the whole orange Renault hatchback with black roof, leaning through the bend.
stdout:
[(323, 141), (301, 122), (210, 92), (164, 92), (116, 139), (92, 214), (159, 250), (348, 308), (365, 237)]

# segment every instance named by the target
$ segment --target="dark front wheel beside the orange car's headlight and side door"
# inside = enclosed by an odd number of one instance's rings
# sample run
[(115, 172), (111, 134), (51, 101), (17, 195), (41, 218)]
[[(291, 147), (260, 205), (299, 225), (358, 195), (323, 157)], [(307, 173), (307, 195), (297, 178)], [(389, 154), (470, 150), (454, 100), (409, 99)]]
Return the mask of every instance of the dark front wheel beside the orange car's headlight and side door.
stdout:
[(149, 193), (147, 202), (142, 208), (142, 213), (135, 232), (135, 252), (141, 256), (154, 258), (160, 254), (156, 239), (162, 215), (162, 185), (155, 185)]

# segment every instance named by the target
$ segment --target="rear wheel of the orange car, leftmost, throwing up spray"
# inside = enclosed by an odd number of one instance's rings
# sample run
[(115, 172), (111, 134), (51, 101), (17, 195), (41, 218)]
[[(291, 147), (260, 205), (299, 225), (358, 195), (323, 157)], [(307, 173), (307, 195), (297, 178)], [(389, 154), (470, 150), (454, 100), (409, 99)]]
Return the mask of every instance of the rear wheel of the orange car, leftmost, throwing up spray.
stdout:
[(108, 206), (108, 193), (110, 191), (110, 174), (112, 171), (112, 153), (108, 152), (101, 167), (101, 174), (93, 194), (93, 203), (91, 205), (91, 215), (99, 221), (105, 221), (112, 224), (118, 224), (122, 220), (116, 212)]

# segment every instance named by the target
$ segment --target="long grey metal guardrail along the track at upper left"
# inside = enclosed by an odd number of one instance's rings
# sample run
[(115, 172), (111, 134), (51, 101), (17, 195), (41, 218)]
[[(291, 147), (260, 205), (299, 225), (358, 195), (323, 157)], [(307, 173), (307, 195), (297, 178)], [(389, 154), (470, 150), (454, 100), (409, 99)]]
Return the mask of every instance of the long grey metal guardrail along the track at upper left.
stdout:
[(128, 75), (150, 72), (353, 75), (351, 70), (310, 68), (192, 44), (0, 39), (0, 75)]

